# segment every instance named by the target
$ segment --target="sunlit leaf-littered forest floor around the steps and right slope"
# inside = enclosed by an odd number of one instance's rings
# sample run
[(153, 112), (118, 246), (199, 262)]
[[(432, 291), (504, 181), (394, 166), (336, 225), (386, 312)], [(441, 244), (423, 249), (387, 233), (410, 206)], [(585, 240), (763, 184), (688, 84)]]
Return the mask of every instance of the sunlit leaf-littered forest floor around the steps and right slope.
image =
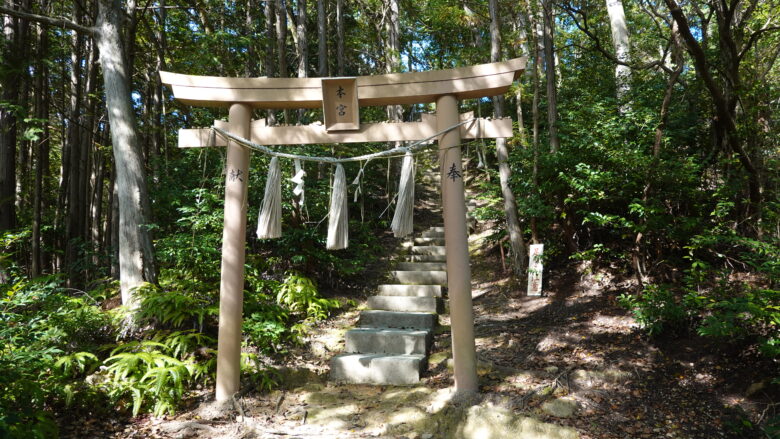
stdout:
[(357, 308), (322, 322), (305, 346), (277, 364), (277, 390), (257, 393), (253, 383), (243, 383), (249, 391), (228, 410), (204, 390), (173, 417), (76, 421), (64, 436), (771, 438), (757, 427), (780, 413), (770, 361), (695, 335), (647, 337), (617, 304), (617, 295), (636, 288), (617, 270), (549, 267), (545, 296), (524, 297), (524, 286), (496, 269), (502, 267), (498, 252), (479, 250), (487, 247), (481, 239), (488, 233), (471, 237), (480, 375), (474, 398), (451, 393), (447, 316), (420, 385), (328, 382), (328, 361), (343, 348), (345, 330), (371, 293), (367, 288), (365, 297), (350, 297)]

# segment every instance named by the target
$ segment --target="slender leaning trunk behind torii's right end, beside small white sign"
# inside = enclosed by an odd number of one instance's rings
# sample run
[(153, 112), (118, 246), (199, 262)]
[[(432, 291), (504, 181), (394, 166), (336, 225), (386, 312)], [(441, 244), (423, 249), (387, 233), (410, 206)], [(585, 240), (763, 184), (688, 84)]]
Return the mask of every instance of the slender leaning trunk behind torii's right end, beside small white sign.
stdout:
[[(501, 23), (498, 15), (498, 0), (488, 0), (490, 12), (490, 61), (501, 61)], [(493, 97), (493, 113), (496, 118), (504, 117), (504, 96)], [(498, 161), (498, 173), (501, 182), (501, 194), (504, 196), (504, 215), (506, 216), (506, 228), (509, 233), (509, 243), (512, 247), (512, 269), (518, 279), (525, 276), (525, 243), (523, 231), (520, 228), (520, 220), (517, 215), (517, 201), (509, 182), (512, 179), (512, 170), (509, 167), (509, 152), (506, 147), (506, 139), (496, 139), (496, 159)]]

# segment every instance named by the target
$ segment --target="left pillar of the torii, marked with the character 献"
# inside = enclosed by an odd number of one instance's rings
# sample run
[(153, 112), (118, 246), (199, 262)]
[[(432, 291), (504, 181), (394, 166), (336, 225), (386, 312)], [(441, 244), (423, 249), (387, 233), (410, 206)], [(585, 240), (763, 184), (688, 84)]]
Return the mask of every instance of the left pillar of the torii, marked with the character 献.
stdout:
[[(230, 132), (249, 138), (252, 107), (230, 105)], [(225, 225), (222, 232), (222, 280), (219, 285), (217, 401), (238, 392), (241, 379), (241, 320), (246, 260), (246, 197), (249, 150), (228, 142), (225, 164)]]

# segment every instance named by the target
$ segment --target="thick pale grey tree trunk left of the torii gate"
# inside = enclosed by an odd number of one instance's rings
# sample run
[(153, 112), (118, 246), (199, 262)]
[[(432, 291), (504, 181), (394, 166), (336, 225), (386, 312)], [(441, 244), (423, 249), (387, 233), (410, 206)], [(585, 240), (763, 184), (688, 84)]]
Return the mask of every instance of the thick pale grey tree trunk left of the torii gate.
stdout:
[(96, 40), (103, 68), (103, 85), (111, 125), (117, 197), (119, 201), (119, 270), (122, 303), (131, 309), (138, 302), (133, 289), (157, 282), (148, 226), (148, 195), (143, 158), (138, 146), (135, 113), (130, 100), (122, 50), (122, 8), (119, 0), (99, 0)]

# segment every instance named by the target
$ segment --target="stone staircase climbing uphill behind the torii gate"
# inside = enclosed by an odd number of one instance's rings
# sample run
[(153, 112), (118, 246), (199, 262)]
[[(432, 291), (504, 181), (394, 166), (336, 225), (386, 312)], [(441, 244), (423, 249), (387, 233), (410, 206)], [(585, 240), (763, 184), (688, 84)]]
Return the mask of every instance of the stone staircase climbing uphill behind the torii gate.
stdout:
[(352, 384), (411, 385), (428, 366), (433, 331), (443, 311), (447, 284), (444, 228), (431, 227), (415, 238), (405, 261), (390, 272), (368, 299), (358, 325), (346, 333), (345, 351), (330, 363), (332, 381)]

